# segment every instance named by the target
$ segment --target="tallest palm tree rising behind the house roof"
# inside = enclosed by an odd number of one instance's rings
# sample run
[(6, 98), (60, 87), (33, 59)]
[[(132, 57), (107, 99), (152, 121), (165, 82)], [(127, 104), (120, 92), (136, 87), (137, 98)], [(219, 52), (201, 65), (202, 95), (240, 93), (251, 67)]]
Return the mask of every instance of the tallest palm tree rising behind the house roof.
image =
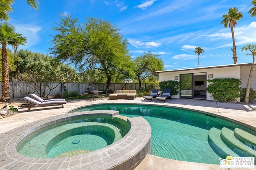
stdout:
[(231, 33), (232, 33), (232, 40), (233, 40), (233, 48), (231, 49), (231, 51), (233, 52), (233, 60), (234, 60), (234, 64), (237, 63), (237, 57), (236, 57), (236, 44), (235, 44), (235, 36), (234, 36), (234, 29), (233, 27), (235, 27), (237, 25), (236, 21), (240, 21), (241, 18), (243, 18), (243, 14), (242, 12), (238, 12), (238, 8), (234, 7), (234, 8), (229, 8), (228, 10), (228, 14), (224, 14), (222, 16), (223, 21), (221, 21), (221, 24), (224, 24), (224, 27), (228, 27), (231, 29)]

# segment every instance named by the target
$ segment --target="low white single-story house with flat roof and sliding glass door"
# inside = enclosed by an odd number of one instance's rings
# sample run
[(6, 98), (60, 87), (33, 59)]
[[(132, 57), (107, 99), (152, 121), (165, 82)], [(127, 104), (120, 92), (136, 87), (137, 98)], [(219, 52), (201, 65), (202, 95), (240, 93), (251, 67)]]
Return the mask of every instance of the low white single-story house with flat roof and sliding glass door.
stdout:
[[(153, 73), (159, 74), (159, 82), (176, 80), (180, 82), (180, 94), (172, 98), (194, 98), (214, 100), (206, 91), (208, 79), (214, 78), (238, 78), (242, 88), (246, 88), (252, 63), (229, 64), (220, 66), (207, 66), (186, 68), (178, 70), (163, 70)], [(256, 71), (252, 73), (251, 87), (256, 90)], [(240, 102), (240, 99), (238, 99)]]

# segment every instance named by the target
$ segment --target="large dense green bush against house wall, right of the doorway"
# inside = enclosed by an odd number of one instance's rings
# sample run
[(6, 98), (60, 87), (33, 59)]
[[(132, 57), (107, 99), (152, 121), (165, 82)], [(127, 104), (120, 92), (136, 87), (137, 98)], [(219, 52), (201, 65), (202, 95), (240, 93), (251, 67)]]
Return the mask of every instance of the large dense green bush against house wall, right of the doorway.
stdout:
[(234, 102), (240, 97), (241, 80), (237, 78), (215, 78), (207, 80), (210, 84), (206, 88), (215, 100), (220, 102)]

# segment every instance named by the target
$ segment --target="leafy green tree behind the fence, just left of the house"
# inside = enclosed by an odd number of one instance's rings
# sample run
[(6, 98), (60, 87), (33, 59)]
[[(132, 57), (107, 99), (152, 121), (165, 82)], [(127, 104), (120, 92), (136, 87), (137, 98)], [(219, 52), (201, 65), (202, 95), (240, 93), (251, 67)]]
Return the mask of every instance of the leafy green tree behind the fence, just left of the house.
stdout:
[(145, 53), (134, 60), (134, 72), (141, 88), (142, 80), (152, 76), (152, 72), (164, 69), (164, 62), (159, 55)]

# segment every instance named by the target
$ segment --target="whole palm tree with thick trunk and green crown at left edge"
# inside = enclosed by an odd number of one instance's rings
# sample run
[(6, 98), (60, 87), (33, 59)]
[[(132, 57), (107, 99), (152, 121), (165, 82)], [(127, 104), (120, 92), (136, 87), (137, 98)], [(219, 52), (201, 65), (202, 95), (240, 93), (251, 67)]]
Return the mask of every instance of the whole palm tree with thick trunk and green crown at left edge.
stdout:
[(14, 53), (19, 45), (25, 45), (26, 38), (15, 32), (15, 27), (9, 23), (0, 23), (0, 44), (2, 45), (2, 97), (1, 101), (10, 100), (9, 88), (9, 67), (7, 59), (6, 45), (11, 45)]

